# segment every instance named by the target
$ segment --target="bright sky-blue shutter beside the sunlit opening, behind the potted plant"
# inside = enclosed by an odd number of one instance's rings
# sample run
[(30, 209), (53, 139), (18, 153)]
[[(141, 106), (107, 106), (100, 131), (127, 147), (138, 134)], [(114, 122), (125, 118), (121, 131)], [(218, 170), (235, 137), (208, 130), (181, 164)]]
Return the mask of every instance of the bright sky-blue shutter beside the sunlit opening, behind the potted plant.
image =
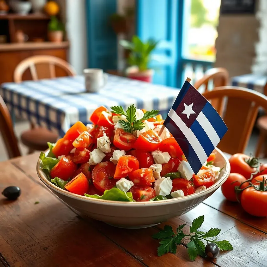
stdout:
[(155, 69), (153, 83), (176, 87), (178, 49), (178, 11), (182, 0), (137, 0), (137, 35), (141, 40), (154, 38), (159, 45), (152, 61)]

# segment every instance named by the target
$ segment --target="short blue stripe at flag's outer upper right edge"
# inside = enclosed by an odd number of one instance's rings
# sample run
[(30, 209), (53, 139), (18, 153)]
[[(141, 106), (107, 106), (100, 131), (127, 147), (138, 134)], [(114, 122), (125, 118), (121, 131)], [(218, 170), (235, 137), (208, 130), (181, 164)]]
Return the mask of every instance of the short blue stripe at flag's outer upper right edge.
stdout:
[(202, 112), (217, 132), (219, 138), (222, 139), (228, 128), (223, 122), (221, 116), (214, 110), (213, 106), (209, 102), (207, 102), (204, 106)]

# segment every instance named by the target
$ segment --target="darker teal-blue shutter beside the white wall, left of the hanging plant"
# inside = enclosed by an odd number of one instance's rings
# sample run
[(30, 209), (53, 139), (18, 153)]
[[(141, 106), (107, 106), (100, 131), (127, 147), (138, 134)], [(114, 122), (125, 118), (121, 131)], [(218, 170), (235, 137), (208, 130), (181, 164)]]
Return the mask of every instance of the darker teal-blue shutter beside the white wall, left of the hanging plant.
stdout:
[(89, 68), (117, 69), (117, 36), (109, 20), (116, 11), (116, 0), (86, 0)]

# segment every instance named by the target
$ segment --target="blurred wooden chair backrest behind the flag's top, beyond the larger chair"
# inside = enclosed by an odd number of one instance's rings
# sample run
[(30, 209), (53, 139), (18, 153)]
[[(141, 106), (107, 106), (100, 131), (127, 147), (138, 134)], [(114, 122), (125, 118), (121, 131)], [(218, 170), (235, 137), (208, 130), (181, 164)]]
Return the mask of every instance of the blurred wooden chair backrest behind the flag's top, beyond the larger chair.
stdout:
[(198, 89), (201, 85), (208, 91), (208, 83), (213, 80), (213, 87), (226, 86), (228, 84), (229, 73), (225, 68), (212, 68), (206, 71), (205, 75), (195, 82), (194, 87)]

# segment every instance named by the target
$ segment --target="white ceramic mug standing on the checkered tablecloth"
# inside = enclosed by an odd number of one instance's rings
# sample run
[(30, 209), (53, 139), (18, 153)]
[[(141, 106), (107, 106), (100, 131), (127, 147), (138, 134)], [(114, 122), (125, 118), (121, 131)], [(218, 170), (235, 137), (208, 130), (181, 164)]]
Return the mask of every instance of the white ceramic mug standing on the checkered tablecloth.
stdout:
[(103, 69), (84, 69), (84, 78), (86, 91), (91, 93), (98, 92), (108, 81)]

